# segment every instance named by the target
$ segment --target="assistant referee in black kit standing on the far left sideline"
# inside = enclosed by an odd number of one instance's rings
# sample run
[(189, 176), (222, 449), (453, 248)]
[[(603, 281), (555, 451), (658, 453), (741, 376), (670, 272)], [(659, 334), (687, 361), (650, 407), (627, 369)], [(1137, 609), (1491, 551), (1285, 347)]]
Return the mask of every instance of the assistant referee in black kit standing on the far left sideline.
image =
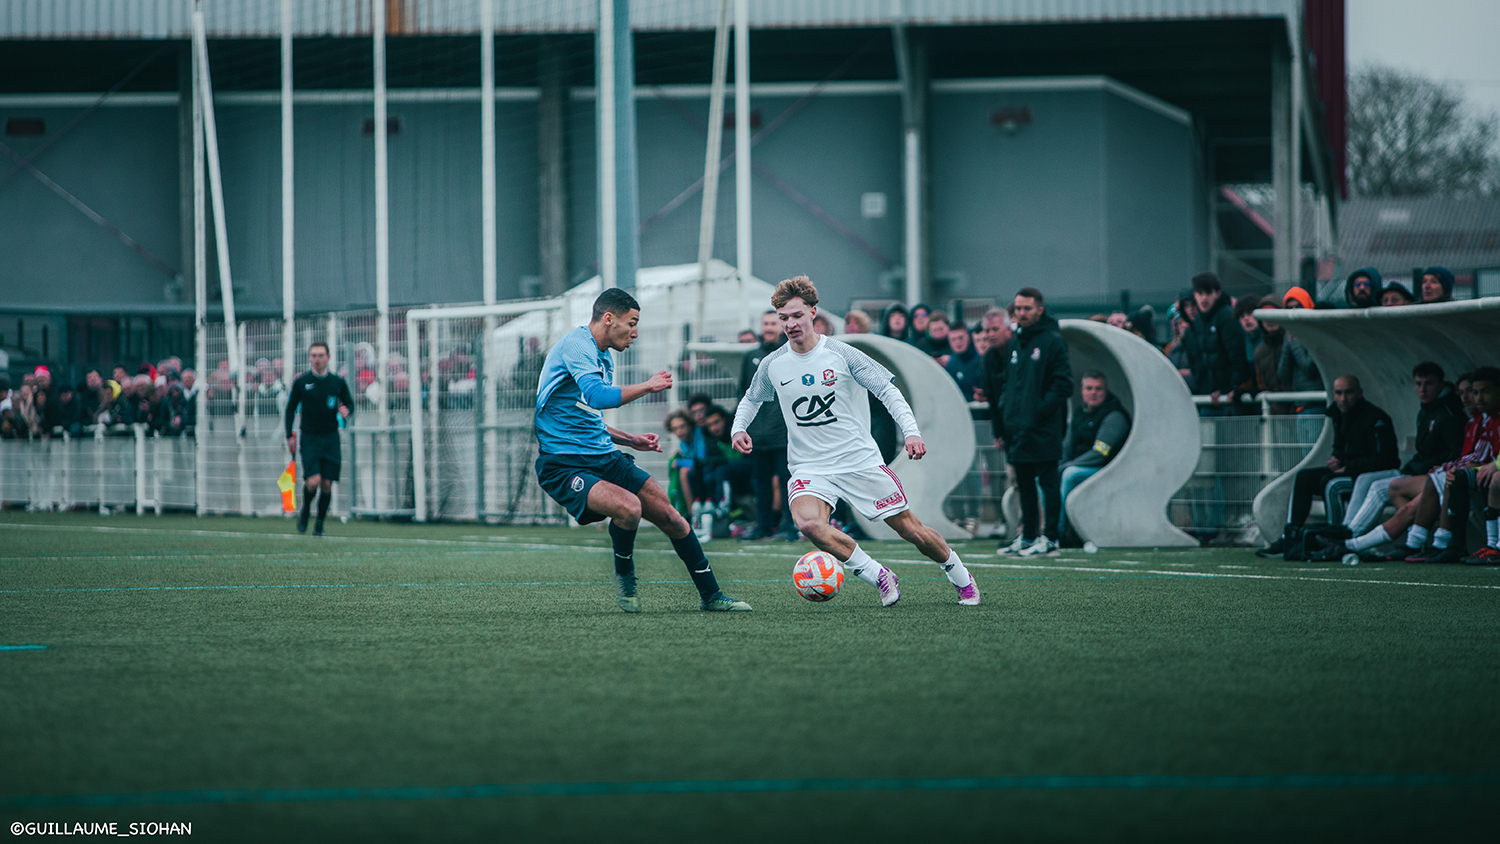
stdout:
[(350, 396), (350, 385), (328, 372), (328, 343), (309, 346), (308, 361), (312, 370), (297, 376), (286, 397), (286, 448), (292, 456), (297, 454), (297, 435), (292, 433), (291, 420), (297, 415), (297, 405), (302, 405), (302, 474), (306, 486), (302, 490), (297, 532), (308, 532), (308, 513), (312, 510), (312, 499), (318, 498), (318, 523), (314, 525), (312, 535), (321, 537), (322, 519), (333, 499), (333, 481), (339, 480), (344, 463), (339, 417), (350, 418), (354, 397)]

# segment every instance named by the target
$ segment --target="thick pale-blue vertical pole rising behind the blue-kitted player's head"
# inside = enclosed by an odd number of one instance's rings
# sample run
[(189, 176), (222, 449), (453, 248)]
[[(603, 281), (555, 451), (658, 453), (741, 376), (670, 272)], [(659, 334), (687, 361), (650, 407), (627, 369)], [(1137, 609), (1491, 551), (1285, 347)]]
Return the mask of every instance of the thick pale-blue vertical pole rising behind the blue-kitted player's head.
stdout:
[(639, 255), (636, 217), (636, 61), (630, 0), (598, 0), (598, 270), (603, 286), (634, 289)]

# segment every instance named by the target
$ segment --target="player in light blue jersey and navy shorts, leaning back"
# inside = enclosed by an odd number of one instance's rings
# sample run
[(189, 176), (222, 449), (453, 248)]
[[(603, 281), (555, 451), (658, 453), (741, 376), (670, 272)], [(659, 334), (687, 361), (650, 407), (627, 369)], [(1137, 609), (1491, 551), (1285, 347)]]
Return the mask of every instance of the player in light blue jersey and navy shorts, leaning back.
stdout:
[(609, 519), (615, 546), (615, 603), (627, 613), (640, 612), (636, 595), (636, 529), (651, 522), (672, 540), (672, 550), (687, 564), (705, 612), (748, 612), (718, 589), (704, 546), (687, 520), (672, 507), (662, 484), (615, 448), (662, 451), (656, 433), (626, 433), (604, 424), (600, 411), (634, 402), (672, 387), (672, 373), (658, 372), (640, 384), (615, 387), (610, 349), (622, 352), (634, 342), (640, 304), (633, 295), (609, 288), (594, 300), (588, 325), (579, 325), (552, 346), (537, 384), (537, 481), (552, 501), (580, 525)]

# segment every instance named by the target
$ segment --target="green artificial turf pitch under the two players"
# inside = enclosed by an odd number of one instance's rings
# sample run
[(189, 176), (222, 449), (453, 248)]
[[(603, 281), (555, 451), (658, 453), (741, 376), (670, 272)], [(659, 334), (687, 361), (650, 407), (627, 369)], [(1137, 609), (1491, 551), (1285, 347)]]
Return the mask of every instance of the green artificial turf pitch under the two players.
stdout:
[(1500, 570), (1000, 561), (903, 597), (640, 532), (0, 513), (0, 820), (196, 840), (1470, 840)]

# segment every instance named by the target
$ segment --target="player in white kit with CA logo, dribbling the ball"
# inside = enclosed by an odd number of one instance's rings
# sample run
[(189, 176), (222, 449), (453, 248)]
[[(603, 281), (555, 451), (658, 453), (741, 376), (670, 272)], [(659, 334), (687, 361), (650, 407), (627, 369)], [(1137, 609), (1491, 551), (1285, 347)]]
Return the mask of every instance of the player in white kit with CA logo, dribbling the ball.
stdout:
[(848, 534), (828, 523), (840, 499), (866, 519), (880, 519), (948, 573), (958, 603), (976, 606), (980, 585), (938, 531), (908, 508), (902, 481), (880, 459), (870, 436), (870, 402), (880, 400), (906, 438), (906, 456), (927, 453), (906, 397), (888, 369), (849, 345), (813, 331), (818, 288), (807, 276), (776, 285), (771, 306), (786, 331), (786, 345), (768, 354), (735, 409), (732, 444), (748, 454), (746, 429), (762, 402), (780, 399), (786, 418), (786, 460), (792, 469), (788, 501), (796, 529), (820, 550), (838, 558), (860, 580), (880, 591), (880, 606), (902, 598), (896, 573), (870, 558)]

